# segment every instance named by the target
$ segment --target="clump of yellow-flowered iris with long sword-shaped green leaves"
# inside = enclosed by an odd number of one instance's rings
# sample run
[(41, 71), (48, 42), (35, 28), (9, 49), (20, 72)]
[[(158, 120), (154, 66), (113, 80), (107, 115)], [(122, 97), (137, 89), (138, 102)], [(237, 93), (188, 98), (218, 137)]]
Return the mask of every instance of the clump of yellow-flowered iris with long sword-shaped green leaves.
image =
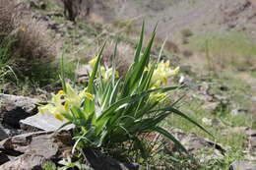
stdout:
[[(202, 126), (175, 108), (175, 102), (167, 102), (170, 91), (181, 86), (162, 87), (167, 78), (175, 75), (178, 68), (170, 70), (168, 62), (152, 62), (150, 52), (156, 32), (153, 32), (145, 51), (142, 51), (144, 26), (130, 69), (123, 78), (115, 70), (115, 52), (112, 67), (100, 67), (100, 53), (90, 64), (94, 67), (88, 85), (77, 90), (64, 82), (63, 90), (53, 94), (49, 104), (39, 107), (39, 112), (50, 112), (67, 124), (74, 124), (76, 144), (80, 147), (109, 147), (114, 143), (134, 143), (133, 148), (143, 152), (140, 135), (158, 132), (186, 151), (180, 142), (161, 128), (160, 122), (171, 113)], [(63, 60), (62, 60), (63, 63)], [(203, 129), (204, 130), (204, 129)]]

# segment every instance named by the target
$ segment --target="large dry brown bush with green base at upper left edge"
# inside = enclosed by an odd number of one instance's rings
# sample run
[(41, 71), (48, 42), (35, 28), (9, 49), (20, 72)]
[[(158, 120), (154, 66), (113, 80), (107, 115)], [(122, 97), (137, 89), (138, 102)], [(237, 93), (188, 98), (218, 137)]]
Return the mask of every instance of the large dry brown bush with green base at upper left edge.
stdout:
[(5, 75), (12, 73), (9, 81), (15, 84), (17, 79), (23, 84), (29, 78), (32, 85), (47, 85), (58, 79), (58, 73), (53, 72), (56, 65), (52, 63), (56, 46), (45, 25), (32, 19), (29, 12), (22, 15), (26, 10), (15, 1), (0, 2), (1, 71)]

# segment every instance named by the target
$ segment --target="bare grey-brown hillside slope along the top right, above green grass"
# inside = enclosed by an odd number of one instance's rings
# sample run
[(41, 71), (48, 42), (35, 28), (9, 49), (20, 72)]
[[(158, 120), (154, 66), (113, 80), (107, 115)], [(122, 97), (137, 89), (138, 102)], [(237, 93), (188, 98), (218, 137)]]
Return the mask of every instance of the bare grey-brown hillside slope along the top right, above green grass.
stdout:
[(106, 22), (146, 20), (149, 30), (159, 23), (159, 35), (163, 37), (183, 28), (195, 32), (252, 30), (256, 28), (255, 4), (255, 0), (96, 0), (93, 11)]

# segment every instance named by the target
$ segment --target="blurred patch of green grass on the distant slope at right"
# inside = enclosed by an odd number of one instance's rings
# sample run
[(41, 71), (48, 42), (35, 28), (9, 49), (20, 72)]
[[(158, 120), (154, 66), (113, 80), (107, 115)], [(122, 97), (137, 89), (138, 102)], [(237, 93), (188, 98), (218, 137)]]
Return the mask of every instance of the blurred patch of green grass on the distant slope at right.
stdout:
[(246, 32), (209, 33), (190, 39), (191, 48), (209, 51), (214, 68), (249, 70), (255, 67), (256, 42)]

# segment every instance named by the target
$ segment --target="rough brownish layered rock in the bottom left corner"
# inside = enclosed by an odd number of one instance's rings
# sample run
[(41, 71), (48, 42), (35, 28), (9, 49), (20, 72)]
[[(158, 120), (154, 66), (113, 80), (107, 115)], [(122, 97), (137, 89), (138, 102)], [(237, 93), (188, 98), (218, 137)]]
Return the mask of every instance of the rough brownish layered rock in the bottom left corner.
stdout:
[[(56, 136), (52, 132), (40, 132), (12, 137), (0, 142), (0, 150), (4, 153), (0, 156), (5, 156), (0, 169), (41, 169), (44, 161), (63, 158), (65, 150), (71, 150), (71, 147), (72, 137), (64, 131)], [(16, 157), (10, 159), (10, 155)]]

